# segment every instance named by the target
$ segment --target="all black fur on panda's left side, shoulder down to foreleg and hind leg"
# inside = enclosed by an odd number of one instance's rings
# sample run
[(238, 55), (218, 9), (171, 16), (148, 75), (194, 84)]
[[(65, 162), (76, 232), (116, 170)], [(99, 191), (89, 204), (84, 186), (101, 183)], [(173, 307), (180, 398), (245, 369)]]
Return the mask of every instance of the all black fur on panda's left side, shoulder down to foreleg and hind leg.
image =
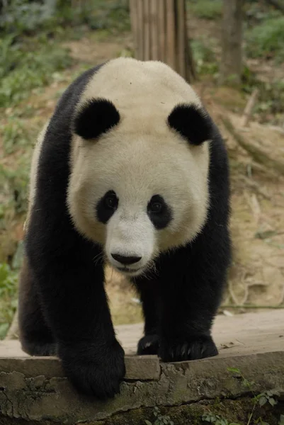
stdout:
[(115, 339), (103, 287), (103, 263), (94, 261), (101, 256), (101, 248), (76, 232), (66, 207), (70, 118), (97, 70), (85, 72), (69, 86), (48, 125), (25, 236), (28, 275), (33, 277), (27, 280), (27, 273), (22, 274), (19, 302), (25, 351), (53, 354), (55, 341), (65, 373), (75, 387), (106, 398), (118, 392), (125, 375), (124, 351)]

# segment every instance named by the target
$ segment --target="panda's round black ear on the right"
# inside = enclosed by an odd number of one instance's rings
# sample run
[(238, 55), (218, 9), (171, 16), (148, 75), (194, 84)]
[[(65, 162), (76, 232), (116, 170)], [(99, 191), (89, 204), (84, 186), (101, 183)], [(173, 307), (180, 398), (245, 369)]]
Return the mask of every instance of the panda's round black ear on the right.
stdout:
[(212, 120), (203, 108), (181, 103), (169, 114), (168, 124), (192, 145), (201, 145), (212, 138)]

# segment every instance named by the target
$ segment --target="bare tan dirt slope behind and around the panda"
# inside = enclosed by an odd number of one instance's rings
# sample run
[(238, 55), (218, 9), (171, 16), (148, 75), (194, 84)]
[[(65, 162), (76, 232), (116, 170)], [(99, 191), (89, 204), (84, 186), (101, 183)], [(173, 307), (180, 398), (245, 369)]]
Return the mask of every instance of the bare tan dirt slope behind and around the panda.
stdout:
[[(205, 21), (191, 17), (189, 33), (194, 37), (213, 40), (216, 55), (220, 54), (218, 37), (220, 26), (214, 21)], [(63, 43), (71, 51), (74, 62), (59, 75), (50, 86), (34, 91), (28, 101), (19, 109), (30, 108), (32, 113), (21, 118), (23, 128), (34, 135), (52, 113), (59, 94), (79, 74), (82, 69), (91, 67), (118, 55), (126, 55), (132, 49), (130, 33), (110, 35), (103, 31), (86, 30), (80, 40)], [(259, 73), (266, 79), (284, 77), (284, 71), (271, 64), (265, 66), (259, 61)], [(256, 65), (254, 61), (254, 65)], [(257, 67), (256, 67), (257, 68)], [(264, 78), (264, 77), (263, 77)], [(216, 123), (225, 137), (232, 172), (232, 220), (231, 229), (234, 243), (234, 261), (229, 273), (229, 285), (221, 311), (225, 314), (242, 312), (247, 307), (276, 307), (284, 302), (284, 177), (276, 172), (274, 163), (283, 164), (284, 132), (272, 125), (260, 125), (252, 120), (245, 129), (240, 120), (248, 95), (237, 91), (217, 87), (210, 78), (203, 78), (193, 84), (200, 94)], [(13, 108), (6, 108), (1, 124), (8, 122)], [(227, 117), (244, 139), (254, 147), (261, 147), (272, 159), (267, 166), (255, 161), (246, 149), (228, 131), (223, 118)], [(7, 154), (4, 149), (4, 137), (0, 135), (1, 165), (11, 171), (21, 169), (28, 164), (31, 145), (21, 144)], [(17, 195), (15, 195), (17, 196)], [(0, 199), (1, 200), (1, 199)], [(6, 202), (5, 198), (3, 201)], [(0, 229), (0, 262), (12, 256), (19, 241), (23, 238), (25, 213), (13, 212), (6, 217), (6, 225)], [(108, 268), (106, 288), (110, 297), (110, 308), (115, 324), (140, 322), (142, 319), (140, 304), (130, 285), (115, 271)], [(243, 306), (243, 308), (235, 308)], [(2, 314), (3, 315), (3, 314)], [(4, 320), (4, 319), (2, 319)]]

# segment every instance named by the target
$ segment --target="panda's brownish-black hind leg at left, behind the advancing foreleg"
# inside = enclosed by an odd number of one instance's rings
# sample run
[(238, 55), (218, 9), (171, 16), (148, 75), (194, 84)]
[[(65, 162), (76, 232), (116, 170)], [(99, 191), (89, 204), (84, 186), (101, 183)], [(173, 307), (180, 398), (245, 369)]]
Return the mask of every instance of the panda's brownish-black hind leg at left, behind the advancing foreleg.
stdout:
[(33, 273), (24, 257), (18, 290), (18, 327), (23, 351), (30, 356), (55, 356), (55, 339), (43, 317)]

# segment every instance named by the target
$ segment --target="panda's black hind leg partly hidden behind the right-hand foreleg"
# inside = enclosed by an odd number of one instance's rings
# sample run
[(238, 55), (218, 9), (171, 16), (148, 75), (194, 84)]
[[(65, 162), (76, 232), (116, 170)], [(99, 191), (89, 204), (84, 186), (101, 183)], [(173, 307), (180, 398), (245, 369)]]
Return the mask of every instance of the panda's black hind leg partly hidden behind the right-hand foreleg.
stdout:
[(157, 354), (159, 350), (159, 282), (137, 278), (135, 285), (140, 293), (144, 314), (144, 336), (137, 345), (138, 356)]

